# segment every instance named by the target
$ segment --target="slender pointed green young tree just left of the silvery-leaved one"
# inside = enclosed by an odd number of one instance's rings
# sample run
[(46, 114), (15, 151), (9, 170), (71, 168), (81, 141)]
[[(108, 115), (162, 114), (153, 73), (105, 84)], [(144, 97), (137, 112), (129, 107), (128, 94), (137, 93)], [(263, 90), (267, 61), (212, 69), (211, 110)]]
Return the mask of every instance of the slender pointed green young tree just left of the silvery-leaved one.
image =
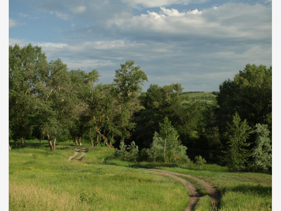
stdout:
[(227, 151), (225, 158), (229, 169), (243, 170), (245, 164), (250, 156), (247, 147), (250, 145), (246, 143), (251, 133), (247, 120), (241, 121), (239, 114), (236, 112), (233, 115), (231, 123), (227, 123), (226, 136), (228, 137)]

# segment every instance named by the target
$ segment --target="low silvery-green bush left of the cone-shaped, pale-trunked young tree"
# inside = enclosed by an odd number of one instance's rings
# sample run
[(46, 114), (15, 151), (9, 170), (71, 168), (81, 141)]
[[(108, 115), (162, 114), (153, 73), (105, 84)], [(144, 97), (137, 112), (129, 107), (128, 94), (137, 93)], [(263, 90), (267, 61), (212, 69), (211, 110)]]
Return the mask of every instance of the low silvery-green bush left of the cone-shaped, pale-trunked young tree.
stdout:
[(115, 151), (115, 158), (129, 161), (129, 162), (136, 162), (138, 159), (139, 149), (138, 146), (135, 144), (134, 141), (131, 142), (131, 145), (125, 145), (124, 143), (120, 143), (120, 150)]

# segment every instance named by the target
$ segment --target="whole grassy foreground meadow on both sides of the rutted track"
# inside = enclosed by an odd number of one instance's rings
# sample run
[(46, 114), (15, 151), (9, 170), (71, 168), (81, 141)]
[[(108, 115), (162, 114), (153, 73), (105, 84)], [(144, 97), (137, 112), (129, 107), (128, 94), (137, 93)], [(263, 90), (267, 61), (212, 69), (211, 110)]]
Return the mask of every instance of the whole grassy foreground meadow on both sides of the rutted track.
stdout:
[[(89, 148), (81, 161), (67, 161), (77, 148), (72, 142), (58, 143), (52, 153), (47, 141), (26, 144), (9, 152), (9, 210), (184, 210), (189, 203), (184, 185), (148, 168), (212, 184), (219, 192), (219, 210), (272, 209), (268, 174), (228, 172), (215, 164), (129, 163), (110, 158), (114, 151), (102, 147)], [(201, 196), (195, 210), (214, 209), (205, 188), (185, 179)]]

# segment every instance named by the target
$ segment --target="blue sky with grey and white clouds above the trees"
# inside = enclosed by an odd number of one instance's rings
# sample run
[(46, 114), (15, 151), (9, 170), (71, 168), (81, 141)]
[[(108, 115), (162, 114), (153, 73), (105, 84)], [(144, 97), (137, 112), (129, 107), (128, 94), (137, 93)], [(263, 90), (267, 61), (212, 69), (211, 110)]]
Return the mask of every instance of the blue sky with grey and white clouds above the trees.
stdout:
[(111, 83), (134, 60), (149, 82), (218, 91), (247, 63), (272, 64), (270, 0), (10, 0), (9, 44), (42, 46)]

